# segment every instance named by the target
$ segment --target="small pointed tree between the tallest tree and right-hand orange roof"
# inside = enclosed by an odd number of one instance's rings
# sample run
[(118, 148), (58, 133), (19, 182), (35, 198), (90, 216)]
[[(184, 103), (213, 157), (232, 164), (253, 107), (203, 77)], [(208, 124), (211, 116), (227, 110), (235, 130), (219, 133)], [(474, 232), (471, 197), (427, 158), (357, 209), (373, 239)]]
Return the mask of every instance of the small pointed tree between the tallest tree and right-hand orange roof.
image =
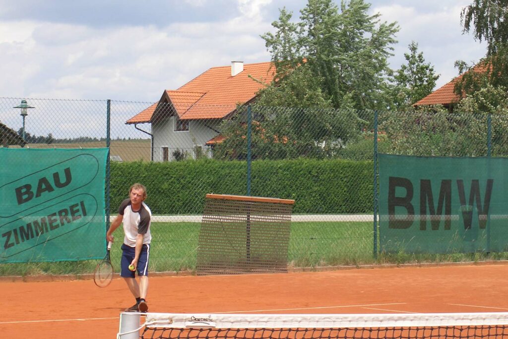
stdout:
[(410, 106), (428, 96), (436, 85), (439, 75), (434, 73), (434, 67), (425, 63), (423, 52), (418, 53), (418, 44), (409, 44), (409, 53), (404, 53), (407, 61), (395, 72), (396, 107)]

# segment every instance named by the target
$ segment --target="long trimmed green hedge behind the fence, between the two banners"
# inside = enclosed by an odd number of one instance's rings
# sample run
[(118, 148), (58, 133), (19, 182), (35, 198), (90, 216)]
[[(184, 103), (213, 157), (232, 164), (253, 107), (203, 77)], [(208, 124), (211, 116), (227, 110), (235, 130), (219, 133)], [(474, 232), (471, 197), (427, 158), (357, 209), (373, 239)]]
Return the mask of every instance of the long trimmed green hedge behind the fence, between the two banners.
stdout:
[[(371, 213), (373, 165), (350, 160), (258, 160), (251, 195), (295, 199), (294, 213)], [(207, 193), (246, 195), (245, 161), (186, 160), (111, 164), (111, 213), (134, 182), (154, 214), (201, 214)]]

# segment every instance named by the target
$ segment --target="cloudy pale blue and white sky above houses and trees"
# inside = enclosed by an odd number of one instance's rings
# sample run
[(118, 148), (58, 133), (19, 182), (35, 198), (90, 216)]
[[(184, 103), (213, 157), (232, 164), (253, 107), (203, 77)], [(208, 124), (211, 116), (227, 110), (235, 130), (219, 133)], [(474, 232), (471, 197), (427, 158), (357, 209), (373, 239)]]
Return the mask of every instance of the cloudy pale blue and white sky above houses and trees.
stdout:
[[(463, 34), (472, 0), (371, 0), (396, 21), (393, 69), (415, 41), (440, 75), (478, 61), (485, 44)], [(211, 67), (270, 61), (260, 35), (307, 0), (0, 0), (0, 97), (155, 102)], [(336, 1), (340, 5), (340, 0)]]

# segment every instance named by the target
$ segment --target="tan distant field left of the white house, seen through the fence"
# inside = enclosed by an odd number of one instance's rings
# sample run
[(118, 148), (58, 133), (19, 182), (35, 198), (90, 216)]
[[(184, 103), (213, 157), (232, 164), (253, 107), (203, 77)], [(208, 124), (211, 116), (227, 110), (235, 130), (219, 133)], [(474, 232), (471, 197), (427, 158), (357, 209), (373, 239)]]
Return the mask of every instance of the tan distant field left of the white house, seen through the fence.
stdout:
[[(30, 148), (96, 148), (106, 147), (106, 141), (76, 142), (76, 143), (53, 143), (53, 144), (28, 144)], [(150, 139), (136, 140), (111, 140), (112, 160), (119, 157), (121, 161), (150, 161)]]

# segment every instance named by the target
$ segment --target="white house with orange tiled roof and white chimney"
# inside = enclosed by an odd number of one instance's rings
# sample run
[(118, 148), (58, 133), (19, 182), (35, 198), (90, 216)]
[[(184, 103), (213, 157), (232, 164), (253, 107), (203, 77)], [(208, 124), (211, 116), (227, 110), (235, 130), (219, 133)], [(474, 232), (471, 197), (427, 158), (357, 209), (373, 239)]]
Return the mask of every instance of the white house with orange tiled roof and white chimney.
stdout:
[[(212, 156), (223, 140), (220, 124), (232, 117), (238, 105), (256, 99), (275, 74), (272, 63), (213, 67), (175, 90), (164, 90), (161, 99), (126, 121), (128, 125), (150, 124), (151, 160), (171, 161)], [(145, 132), (147, 133), (147, 132)]]

